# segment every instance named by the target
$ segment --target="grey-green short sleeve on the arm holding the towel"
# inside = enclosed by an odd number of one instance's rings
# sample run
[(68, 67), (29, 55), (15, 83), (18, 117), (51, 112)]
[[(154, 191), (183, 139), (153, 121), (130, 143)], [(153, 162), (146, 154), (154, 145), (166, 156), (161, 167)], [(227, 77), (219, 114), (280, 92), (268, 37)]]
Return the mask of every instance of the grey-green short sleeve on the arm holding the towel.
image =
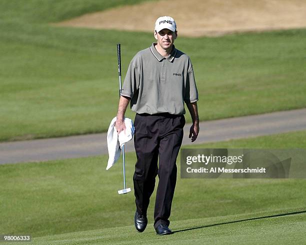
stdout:
[(139, 80), (138, 66), (135, 58), (133, 58), (128, 65), (120, 94), (132, 98), (139, 86)]

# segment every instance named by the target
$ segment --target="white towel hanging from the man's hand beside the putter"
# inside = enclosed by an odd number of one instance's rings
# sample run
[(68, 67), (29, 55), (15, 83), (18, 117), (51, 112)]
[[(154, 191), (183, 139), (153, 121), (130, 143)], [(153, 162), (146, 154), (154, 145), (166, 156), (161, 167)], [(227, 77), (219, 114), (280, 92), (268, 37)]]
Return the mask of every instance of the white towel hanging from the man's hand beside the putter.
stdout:
[(119, 159), (122, 145), (131, 140), (135, 132), (133, 121), (130, 118), (124, 117), (125, 130), (121, 131), (118, 136), (114, 126), (115, 122), (116, 117), (111, 120), (107, 130), (108, 162), (106, 170)]

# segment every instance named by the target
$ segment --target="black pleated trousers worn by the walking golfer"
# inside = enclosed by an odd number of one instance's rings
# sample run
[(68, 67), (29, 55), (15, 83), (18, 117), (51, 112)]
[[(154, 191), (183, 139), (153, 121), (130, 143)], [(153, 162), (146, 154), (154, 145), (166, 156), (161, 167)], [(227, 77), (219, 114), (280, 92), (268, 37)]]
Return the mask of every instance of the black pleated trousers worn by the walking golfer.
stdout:
[[(154, 227), (169, 225), (176, 183), (176, 157), (183, 137), (183, 115), (136, 114), (134, 145), (137, 156), (133, 175), (136, 209), (145, 215), (158, 174)], [(159, 164), (157, 161), (159, 157)]]

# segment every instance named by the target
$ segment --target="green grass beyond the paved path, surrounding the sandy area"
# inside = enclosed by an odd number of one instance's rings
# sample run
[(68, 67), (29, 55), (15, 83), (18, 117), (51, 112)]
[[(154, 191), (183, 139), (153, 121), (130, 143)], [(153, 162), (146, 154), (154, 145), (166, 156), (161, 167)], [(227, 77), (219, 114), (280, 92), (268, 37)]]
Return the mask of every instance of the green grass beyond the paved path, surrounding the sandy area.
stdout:
[[(106, 131), (118, 102), (116, 43), (124, 77), (152, 34), (47, 24), (122, 0), (25, 2), (0, 2), (0, 141)], [(305, 37), (306, 29), (179, 37), (176, 47), (193, 62), (200, 119), (305, 107)]]

